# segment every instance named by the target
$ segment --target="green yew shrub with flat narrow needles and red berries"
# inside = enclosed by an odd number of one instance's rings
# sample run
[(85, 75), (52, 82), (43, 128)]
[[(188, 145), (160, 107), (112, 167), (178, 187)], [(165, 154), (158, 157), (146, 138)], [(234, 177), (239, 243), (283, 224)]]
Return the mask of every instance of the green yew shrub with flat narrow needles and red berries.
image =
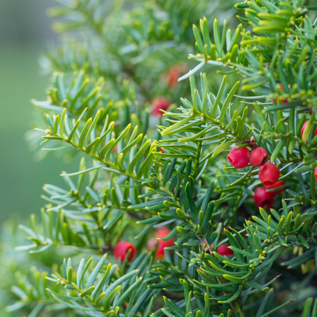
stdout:
[(28, 136), (81, 160), (44, 185), (41, 219), (3, 230), (4, 315), (316, 317), (316, 10), (49, 10), (62, 36)]

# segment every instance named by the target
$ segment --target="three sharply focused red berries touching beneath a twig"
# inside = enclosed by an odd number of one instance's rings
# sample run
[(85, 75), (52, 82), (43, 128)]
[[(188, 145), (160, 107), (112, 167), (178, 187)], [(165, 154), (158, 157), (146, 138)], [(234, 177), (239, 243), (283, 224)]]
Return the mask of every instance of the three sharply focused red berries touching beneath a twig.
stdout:
[(268, 155), (262, 147), (257, 147), (250, 153), (246, 147), (238, 149), (235, 146), (230, 150), (227, 159), (236, 168), (246, 167), (249, 163), (255, 167), (261, 166), (259, 179), (263, 185), (274, 185), (280, 177), (280, 170), (276, 165), (267, 163)]

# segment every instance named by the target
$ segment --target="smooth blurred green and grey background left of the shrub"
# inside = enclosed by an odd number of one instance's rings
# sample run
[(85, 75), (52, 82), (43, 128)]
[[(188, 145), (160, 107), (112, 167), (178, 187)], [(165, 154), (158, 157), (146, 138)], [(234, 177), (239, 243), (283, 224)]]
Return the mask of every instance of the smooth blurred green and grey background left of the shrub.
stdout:
[(42, 76), (38, 56), (56, 35), (45, 11), (50, 0), (0, 1), (0, 223), (39, 213), (45, 183), (63, 185), (62, 170), (71, 170), (54, 155), (36, 162), (24, 134), (31, 128), (30, 99), (45, 100), (48, 76)]

